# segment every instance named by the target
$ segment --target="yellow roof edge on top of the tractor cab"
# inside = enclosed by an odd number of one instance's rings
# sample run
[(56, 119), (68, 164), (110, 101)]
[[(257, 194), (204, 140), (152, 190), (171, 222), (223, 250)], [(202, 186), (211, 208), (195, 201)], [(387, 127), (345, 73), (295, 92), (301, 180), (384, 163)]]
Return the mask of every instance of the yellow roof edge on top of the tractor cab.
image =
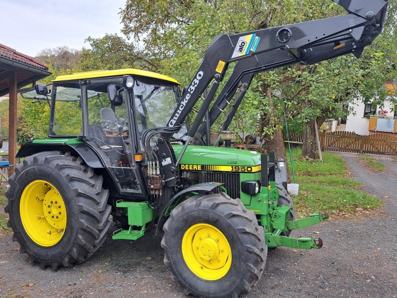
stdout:
[(59, 75), (53, 80), (53, 82), (75, 80), (75, 79), (96, 78), (96, 77), (117, 76), (117, 75), (125, 75), (125, 74), (147, 76), (147, 77), (151, 77), (151, 78), (166, 80), (166, 81), (173, 82), (173, 83), (180, 85), (180, 83), (176, 79), (174, 79), (170, 76), (163, 75), (163, 74), (156, 74), (156, 73), (147, 72), (147, 71), (135, 70), (135, 69), (123, 69), (123, 70), (114, 70), (114, 71), (101, 70), (101, 71), (93, 71), (93, 72)]

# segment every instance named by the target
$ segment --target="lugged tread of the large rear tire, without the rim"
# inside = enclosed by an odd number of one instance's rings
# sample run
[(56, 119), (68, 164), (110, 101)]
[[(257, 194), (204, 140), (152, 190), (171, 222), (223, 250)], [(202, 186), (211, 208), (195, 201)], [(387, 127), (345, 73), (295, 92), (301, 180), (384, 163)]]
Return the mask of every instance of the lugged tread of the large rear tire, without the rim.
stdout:
[(102, 188), (103, 177), (96, 175), (80, 157), (74, 157), (69, 152), (63, 154), (61, 151), (44, 151), (26, 157), (15, 167), (15, 173), (9, 178), (10, 187), (5, 193), (8, 198), (7, 213), (11, 211), (11, 206), (16, 201), (14, 192), (19, 175), (28, 167), (37, 171), (42, 165), (60, 173), (75, 195), (78, 228), (73, 245), (61, 257), (51, 262), (42, 261), (23, 248), (23, 238), (12, 220), (16, 215), (10, 214), (9, 225), (14, 231), (13, 239), (20, 243), (21, 252), (26, 252), (30, 261), (39, 263), (41, 268), (51, 267), (53, 270), (58, 270), (61, 266), (69, 268), (75, 263), (84, 262), (106, 239), (111, 213), (111, 206), (107, 205), (109, 191)]

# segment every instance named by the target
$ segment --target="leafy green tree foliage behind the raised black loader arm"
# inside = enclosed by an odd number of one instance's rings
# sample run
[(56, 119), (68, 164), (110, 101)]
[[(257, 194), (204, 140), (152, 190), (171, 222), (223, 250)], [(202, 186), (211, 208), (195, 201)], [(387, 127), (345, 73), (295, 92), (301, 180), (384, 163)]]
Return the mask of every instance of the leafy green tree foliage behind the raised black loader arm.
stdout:
[[(394, 2), (394, 1), (392, 1)], [(342, 104), (362, 96), (387, 95), (383, 81), (395, 77), (397, 42), (392, 5), (387, 28), (373, 47), (357, 60), (352, 55), (313, 66), (292, 66), (257, 75), (247, 92), (231, 128), (244, 134), (272, 139), (283, 127), (282, 100), (296, 131), (320, 115), (343, 116)], [(299, 11), (299, 13), (297, 13)], [(163, 73), (188, 84), (199, 67), (200, 58), (218, 34), (275, 27), (343, 13), (335, 3), (322, 0), (127, 0), (121, 11), (123, 32), (144, 45), (143, 55), (155, 61)], [(274, 95), (277, 93), (278, 97)], [(198, 103), (198, 105), (200, 102)], [(224, 118), (220, 119), (222, 122)], [(212, 130), (218, 132), (220, 122)], [(320, 123), (321, 125), (321, 123)], [(293, 129), (292, 129), (293, 130)]]

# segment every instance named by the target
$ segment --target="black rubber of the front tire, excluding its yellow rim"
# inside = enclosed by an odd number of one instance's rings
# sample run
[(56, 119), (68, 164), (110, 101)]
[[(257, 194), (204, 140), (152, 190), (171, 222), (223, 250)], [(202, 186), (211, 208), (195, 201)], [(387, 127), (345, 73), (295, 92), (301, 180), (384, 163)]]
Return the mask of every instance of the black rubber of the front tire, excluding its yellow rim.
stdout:
[[(232, 251), (230, 269), (214, 281), (201, 279), (191, 271), (182, 254), (185, 232), (202, 223), (218, 228)], [(248, 293), (262, 276), (267, 257), (264, 228), (240, 199), (231, 199), (224, 193), (191, 197), (171, 212), (164, 231), (161, 241), (165, 250), (164, 263), (172, 271), (172, 280), (178, 281), (186, 294), (237, 298)]]

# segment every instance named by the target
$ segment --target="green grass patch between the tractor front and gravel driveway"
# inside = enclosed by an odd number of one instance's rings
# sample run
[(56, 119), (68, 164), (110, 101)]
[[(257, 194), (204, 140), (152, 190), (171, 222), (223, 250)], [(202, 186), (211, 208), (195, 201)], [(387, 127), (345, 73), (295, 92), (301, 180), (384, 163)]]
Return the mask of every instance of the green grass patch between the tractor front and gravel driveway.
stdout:
[[(382, 206), (377, 197), (361, 191), (361, 183), (347, 177), (342, 157), (324, 152), (324, 162), (309, 161), (300, 156), (301, 152), (292, 150), (296, 182), (300, 185), (299, 195), (293, 198), (298, 213), (320, 211), (349, 216)], [(292, 173), (290, 164), (289, 172)]]

